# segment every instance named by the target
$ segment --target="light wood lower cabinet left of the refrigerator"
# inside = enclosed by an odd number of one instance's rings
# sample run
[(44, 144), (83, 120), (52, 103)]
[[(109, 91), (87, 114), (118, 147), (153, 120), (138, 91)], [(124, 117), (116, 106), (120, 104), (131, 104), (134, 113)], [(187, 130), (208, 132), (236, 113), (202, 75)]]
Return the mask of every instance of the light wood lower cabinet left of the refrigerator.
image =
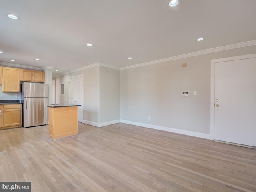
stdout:
[[(0, 116), (0, 129), (16, 128), (22, 125), (22, 104), (2, 105), (2, 116)], [(2, 121), (2, 123), (1, 123)]]

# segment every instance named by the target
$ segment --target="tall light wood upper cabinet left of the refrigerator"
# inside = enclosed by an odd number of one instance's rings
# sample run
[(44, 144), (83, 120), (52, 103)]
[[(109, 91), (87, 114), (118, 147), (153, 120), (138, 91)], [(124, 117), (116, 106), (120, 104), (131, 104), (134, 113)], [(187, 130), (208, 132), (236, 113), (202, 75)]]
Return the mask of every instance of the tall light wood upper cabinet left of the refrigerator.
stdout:
[(20, 92), (20, 69), (2, 67), (2, 92)]

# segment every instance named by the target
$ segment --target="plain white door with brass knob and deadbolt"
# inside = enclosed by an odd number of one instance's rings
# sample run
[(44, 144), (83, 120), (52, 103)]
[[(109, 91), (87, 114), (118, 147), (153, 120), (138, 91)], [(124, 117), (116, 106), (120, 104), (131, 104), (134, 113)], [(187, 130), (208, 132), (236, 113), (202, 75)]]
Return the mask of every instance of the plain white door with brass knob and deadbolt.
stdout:
[(256, 146), (256, 58), (215, 63), (214, 140)]

